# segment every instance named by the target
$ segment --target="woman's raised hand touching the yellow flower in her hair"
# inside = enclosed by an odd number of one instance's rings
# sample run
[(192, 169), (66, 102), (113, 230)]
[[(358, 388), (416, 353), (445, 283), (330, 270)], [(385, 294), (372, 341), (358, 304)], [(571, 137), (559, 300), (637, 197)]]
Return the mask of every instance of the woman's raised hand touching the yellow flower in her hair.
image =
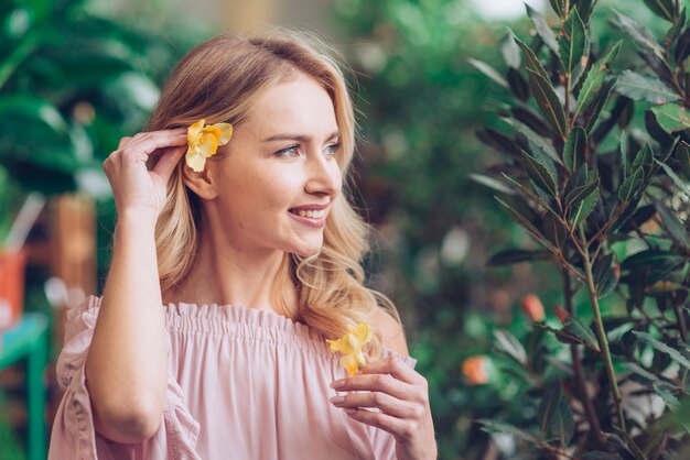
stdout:
[[(185, 152), (186, 128), (122, 138), (103, 165), (118, 213), (142, 212), (155, 220), (165, 204), (168, 179)], [(150, 155), (160, 156), (151, 171), (147, 168)]]

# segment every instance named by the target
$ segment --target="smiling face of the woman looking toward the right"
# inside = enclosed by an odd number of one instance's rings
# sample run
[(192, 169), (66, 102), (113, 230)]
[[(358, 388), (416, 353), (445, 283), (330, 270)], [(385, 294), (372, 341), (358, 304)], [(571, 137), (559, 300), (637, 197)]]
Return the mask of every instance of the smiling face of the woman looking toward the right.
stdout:
[(206, 164), (226, 241), (241, 251), (317, 252), (342, 187), (338, 149), (333, 102), (316, 80), (297, 73), (268, 89), (224, 155)]

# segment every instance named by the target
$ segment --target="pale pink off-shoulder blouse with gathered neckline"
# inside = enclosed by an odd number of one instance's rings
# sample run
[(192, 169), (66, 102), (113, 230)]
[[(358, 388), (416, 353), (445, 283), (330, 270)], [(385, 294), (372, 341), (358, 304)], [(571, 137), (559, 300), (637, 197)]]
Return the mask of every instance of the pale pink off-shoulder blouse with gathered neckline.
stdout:
[[(57, 377), (65, 395), (50, 460), (395, 459), (393, 437), (328, 398), (346, 376), (325, 338), (268, 310), (170, 304), (168, 393), (158, 431), (118, 443), (94, 429), (85, 362), (100, 297), (67, 316)], [(416, 360), (384, 349), (411, 368)]]

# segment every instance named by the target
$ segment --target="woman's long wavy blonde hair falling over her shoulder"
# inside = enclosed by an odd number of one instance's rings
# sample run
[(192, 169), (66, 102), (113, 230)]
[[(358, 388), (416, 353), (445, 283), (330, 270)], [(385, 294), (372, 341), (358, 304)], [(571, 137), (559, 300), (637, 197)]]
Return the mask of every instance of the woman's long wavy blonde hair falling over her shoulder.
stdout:
[[(341, 132), (336, 161), (347, 176), (355, 149), (355, 117), (341, 67), (313, 37), (280, 33), (267, 37), (220, 35), (192, 50), (170, 76), (148, 131), (208, 123), (239, 124), (256, 99), (268, 88), (302, 72), (331, 96)], [(180, 162), (169, 185), (168, 198), (155, 228), (161, 289), (174, 287), (190, 271), (198, 244), (200, 200), (185, 187)], [(346, 180), (347, 184), (347, 180)], [(346, 193), (346, 191), (345, 191)], [(321, 251), (310, 256), (285, 254), (281, 286), (293, 283), (299, 317), (328, 338), (339, 337), (359, 321), (371, 325), (374, 339), (367, 347), (380, 354), (381, 335), (371, 324), (384, 308), (400, 324), (392, 303), (364, 285), (360, 265), (368, 252), (369, 227), (341, 194), (333, 202), (324, 228)], [(278, 308), (287, 308), (287, 289), (273, 293)]]

